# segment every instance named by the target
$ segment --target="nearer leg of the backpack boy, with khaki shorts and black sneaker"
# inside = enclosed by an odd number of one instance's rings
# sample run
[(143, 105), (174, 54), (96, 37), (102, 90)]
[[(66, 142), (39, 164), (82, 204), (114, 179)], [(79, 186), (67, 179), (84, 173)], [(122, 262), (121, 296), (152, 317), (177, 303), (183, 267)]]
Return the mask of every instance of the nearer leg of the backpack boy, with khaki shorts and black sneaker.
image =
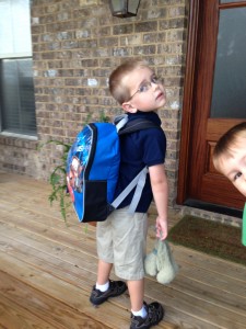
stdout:
[[(157, 302), (147, 304), (144, 298), (144, 254), (148, 231), (145, 214), (131, 217), (124, 214), (117, 226), (118, 239), (115, 239), (115, 271), (127, 280), (131, 303), (130, 329), (149, 329), (164, 317), (164, 309)], [(124, 222), (126, 220), (126, 224)], [(124, 237), (126, 240), (124, 241)], [(117, 243), (118, 242), (118, 243)]]

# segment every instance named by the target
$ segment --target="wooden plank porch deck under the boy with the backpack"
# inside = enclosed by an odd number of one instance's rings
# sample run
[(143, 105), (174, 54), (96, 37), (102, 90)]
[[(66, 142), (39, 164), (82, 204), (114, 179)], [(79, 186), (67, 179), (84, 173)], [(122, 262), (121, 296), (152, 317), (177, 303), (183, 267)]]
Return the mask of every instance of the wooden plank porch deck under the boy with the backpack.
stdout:
[[(45, 182), (0, 173), (0, 328), (129, 328), (128, 294), (98, 308), (90, 304), (95, 228), (86, 230), (73, 213), (66, 226), (57, 206), (49, 206), (49, 191)], [(151, 250), (151, 224), (149, 231)], [(145, 300), (159, 300), (166, 310), (155, 328), (246, 328), (246, 268), (172, 249), (180, 268), (172, 284), (145, 280)]]

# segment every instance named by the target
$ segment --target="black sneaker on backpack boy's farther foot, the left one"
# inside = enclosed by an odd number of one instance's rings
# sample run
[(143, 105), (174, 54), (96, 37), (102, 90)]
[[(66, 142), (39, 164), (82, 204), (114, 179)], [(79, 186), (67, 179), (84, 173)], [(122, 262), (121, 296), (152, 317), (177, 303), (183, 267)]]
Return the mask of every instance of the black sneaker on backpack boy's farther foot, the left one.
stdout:
[(90, 302), (93, 305), (99, 305), (107, 300), (109, 297), (116, 297), (125, 293), (127, 285), (122, 281), (112, 281), (109, 280), (109, 287), (106, 292), (102, 293), (99, 290), (96, 290), (95, 285), (93, 286)]

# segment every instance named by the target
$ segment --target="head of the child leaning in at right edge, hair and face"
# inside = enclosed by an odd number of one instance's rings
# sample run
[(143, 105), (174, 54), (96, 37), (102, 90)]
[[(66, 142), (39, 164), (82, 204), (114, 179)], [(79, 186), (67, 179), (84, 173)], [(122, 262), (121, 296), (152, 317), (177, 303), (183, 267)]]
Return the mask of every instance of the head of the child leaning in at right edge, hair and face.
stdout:
[(246, 122), (243, 122), (218, 141), (213, 164), (234, 186), (246, 196)]

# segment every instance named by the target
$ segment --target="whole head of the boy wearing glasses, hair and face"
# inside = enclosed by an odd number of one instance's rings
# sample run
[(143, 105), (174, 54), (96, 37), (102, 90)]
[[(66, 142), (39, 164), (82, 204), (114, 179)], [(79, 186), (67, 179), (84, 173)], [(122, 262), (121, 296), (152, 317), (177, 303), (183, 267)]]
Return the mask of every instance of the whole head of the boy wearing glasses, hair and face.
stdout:
[(154, 71), (142, 60), (131, 59), (109, 77), (109, 90), (126, 112), (150, 112), (165, 105), (165, 90)]

